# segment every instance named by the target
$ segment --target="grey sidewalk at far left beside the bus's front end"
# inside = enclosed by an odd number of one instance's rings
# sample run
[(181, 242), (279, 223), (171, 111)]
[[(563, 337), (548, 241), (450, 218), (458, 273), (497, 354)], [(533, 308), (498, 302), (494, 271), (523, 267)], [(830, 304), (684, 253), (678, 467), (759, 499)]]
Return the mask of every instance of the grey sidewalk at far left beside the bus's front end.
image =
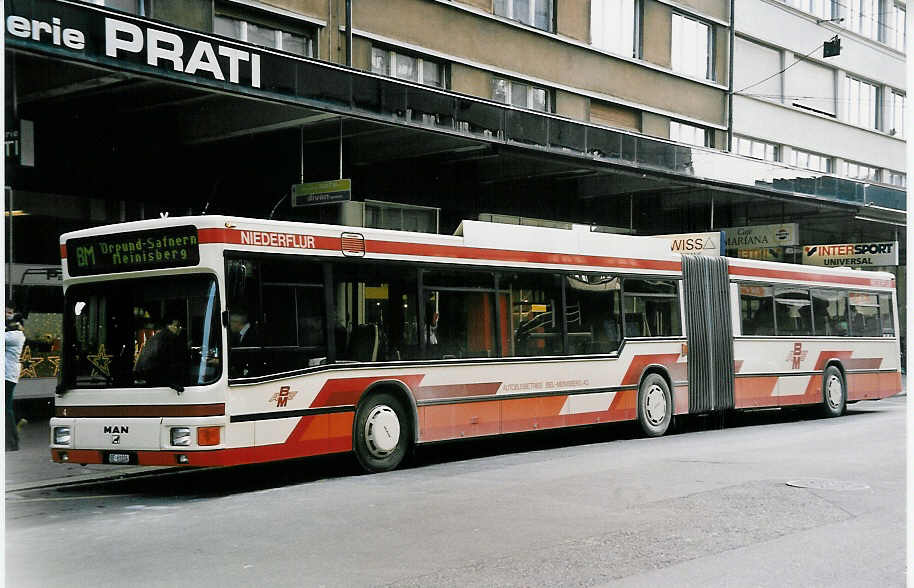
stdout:
[(49, 439), (47, 419), (30, 422), (22, 427), (19, 431), (19, 451), (6, 452), (7, 492), (171, 469), (54, 463), (48, 449)]

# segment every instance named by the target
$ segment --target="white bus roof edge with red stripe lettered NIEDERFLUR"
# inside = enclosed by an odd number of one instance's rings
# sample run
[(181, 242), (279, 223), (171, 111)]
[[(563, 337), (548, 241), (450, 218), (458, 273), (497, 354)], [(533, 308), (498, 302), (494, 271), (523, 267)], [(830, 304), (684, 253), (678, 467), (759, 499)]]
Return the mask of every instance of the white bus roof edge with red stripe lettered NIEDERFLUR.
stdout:
[[(193, 225), (201, 244), (222, 244), (230, 249), (291, 253), (346, 255), (349, 245), (363, 247), (360, 254), (372, 258), (415, 259), (438, 263), (531, 267), (564, 265), (576, 268), (612, 268), (632, 272), (678, 273), (680, 254), (670, 251), (669, 242), (647, 236), (617, 235), (590, 231), (586, 225), (573, 229), (508, 225), (465, 220), (457, 235), (438, 235), (389, 229), (374, 229), (239, 218), (222, 215), (179, 216), (131, 221), (64, 233), (61, 256), (66, 258), (69, 239), (166, 229)], [(341, 239), (341, 237), (343, 237)], [(308, 241), (308, 239), (312, 239)], [(342, 241), (342, 247), (341, 247)], [(351, 253), (351, 252), (350, 252)], [(813, 281), (827, 275), (827, 282), (891, 287), (895, 277), (887, 272), (862, 272), (852, 268), (824, 268), (790, 263), (729, 258), (730, 273), (736, 278)]]

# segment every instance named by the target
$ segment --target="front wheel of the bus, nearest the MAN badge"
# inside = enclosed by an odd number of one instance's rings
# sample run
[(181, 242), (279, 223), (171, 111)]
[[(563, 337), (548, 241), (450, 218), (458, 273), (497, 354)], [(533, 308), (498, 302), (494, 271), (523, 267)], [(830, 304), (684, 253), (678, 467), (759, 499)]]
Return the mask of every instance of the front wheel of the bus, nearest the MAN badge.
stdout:
[(372, 394), (359, 404), (352, 431), (356, 459), (366, 471), (390, 471), (406, 457), (411, 439), (409, 417), (392, 394)]

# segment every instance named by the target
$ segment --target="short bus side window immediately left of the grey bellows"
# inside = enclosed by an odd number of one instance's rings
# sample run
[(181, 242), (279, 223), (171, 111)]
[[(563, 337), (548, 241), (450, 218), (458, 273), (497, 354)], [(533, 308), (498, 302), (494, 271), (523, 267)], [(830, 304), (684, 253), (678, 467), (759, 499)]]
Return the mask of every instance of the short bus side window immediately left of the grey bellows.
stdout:
[(679, 287), (673, 280), (627, 279), (622, 284), (625, 337), (682, 335)]

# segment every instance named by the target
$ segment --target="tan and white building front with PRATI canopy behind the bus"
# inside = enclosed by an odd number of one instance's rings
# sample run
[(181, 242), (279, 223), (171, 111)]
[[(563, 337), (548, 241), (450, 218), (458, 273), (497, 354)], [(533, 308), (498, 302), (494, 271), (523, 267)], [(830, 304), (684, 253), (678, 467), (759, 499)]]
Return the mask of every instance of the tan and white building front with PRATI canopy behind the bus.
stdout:
[[(57, 368), (57, 236), (160, 213), (443, 233), (795, 223), (787, 246), (729, 253), (901, 241), (903, 308), (904, 5), (735, 0), (732, 31), (730, 6), (6, 2), (7, 296), (35, 319), (27, 374), (46, 391)], [(290, 185), (337, 177), (352, 202), (290, 206)]]

